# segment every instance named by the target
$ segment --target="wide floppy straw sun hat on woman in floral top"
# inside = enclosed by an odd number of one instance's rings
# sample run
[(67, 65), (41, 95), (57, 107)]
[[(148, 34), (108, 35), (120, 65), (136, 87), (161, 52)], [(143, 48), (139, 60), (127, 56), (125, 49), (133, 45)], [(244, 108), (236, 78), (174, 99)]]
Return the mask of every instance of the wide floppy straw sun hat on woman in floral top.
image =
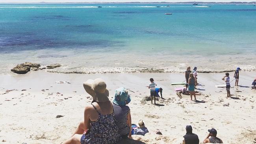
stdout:
[(96, 102), (107, 102), (109, 92), (103, 79), (88, 79), (83, 83), (85, 91), (93, 97)]

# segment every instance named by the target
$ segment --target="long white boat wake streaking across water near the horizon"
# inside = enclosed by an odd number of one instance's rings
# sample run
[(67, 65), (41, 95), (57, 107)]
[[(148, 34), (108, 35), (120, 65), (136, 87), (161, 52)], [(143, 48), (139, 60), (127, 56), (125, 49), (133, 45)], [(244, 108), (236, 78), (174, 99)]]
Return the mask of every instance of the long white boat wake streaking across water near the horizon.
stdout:
[[(104, 6), (102, 6), (104, 7)], [(109, 8), (111, 7), (117, 7), (117, 6), (107, 6)], [(156, 6), (120, 6), (117, 8), (132, 8), (132, 7), (156, 7)], [(160, 7), (167, 7), (167, 6), (160, 6)], [(209, 7), (209, 6), (170, 6), (170, 7)], [(76, 7), (0, 7), (0, 8), (98, 8), (98, 6), (76, 6)]]

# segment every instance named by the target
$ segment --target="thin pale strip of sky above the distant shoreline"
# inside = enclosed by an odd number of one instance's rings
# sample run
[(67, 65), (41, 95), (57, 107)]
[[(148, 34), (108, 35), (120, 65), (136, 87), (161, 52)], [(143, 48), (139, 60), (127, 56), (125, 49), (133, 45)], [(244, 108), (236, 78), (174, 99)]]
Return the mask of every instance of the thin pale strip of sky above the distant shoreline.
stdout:
[[(161, 0), (161, 2), (192, 2), (194, 0)], [(252, 2), (252, 0), (196, 0), (197, 2)], [(254, 0), (255, 1), (255, 0)], [(0, 0), (0, 3), (30, 2), (160, 2), (160, 0)]]

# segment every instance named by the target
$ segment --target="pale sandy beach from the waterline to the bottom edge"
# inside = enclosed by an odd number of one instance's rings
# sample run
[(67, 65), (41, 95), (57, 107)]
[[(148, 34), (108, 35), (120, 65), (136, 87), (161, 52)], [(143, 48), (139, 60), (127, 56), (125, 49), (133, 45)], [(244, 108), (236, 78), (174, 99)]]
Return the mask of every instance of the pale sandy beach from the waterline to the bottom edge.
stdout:
[[(103, 78), (110, 90), (110, 99), (118, 87), (129, 89), (132, 123), (143, 119), (150, 131), (145, 137), (133, 135), (134, 140), (126, 143), (180, 144), (186, 125), (191, 125), (200, 142), (208, 134), (207, 130), (214, 127), (217, 137), (225, 144), (253, 144), (256, 90), (250, 89), (250, 84), (256, 73), (240, 73), (239, 85), (248, 87), (231, 88), (232, 98), (226, 98), (225, 88), (214, 87), (225, 84), (221, 80), (223, 76), (224, 73), (199, 73), (198, 83), (205, 86), (198, 86), (202, 95), (197, 96), (200, 102), (194, 102), (190, 101), (190, 96), (179, 98), (173, 89), (181, 85), (170, 84), (184, 80), (184, 74), (180, 73), (86, 75), (37, 71), (19, 76), (0, 75), (0, 143), (60, 144), (83, 120), (84, 106), (91, 102), (83, 89), (83, 81)], [(143, 97), (149, 95), (145, 86), (151, 77), (163, 88), (165, 100), (157, 101), (160, 105), (152, 105), (150, 101), (141, 103)], [(57, 84), (56, 81), (71, 84)], [(223, 106), (228, 103), (229, 106)], [(63, 117), (56, 118), (57, 115)], [(156, 135), (156, 129), (163, 135)]]

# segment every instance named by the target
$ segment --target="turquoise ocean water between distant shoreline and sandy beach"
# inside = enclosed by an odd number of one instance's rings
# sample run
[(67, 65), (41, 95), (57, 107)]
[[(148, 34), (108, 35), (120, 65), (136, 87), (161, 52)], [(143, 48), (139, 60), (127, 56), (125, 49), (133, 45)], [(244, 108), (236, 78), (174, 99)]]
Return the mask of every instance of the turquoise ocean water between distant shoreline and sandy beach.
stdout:
[(26, 61), (58, 72), (255, 70), (255, 54), (253, 5), (0, 4), (4, 74)]

